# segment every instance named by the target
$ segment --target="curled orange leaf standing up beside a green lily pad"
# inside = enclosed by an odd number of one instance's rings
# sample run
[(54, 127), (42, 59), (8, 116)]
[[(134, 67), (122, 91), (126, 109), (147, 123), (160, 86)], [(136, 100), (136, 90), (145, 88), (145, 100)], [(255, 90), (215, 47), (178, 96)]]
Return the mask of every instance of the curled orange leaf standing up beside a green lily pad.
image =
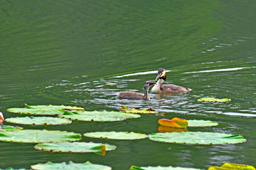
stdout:
[(188, 127), (188, 121), (186, 119), (181, 119), (174, 117), (173, 119), (159, 119), (159, 124), (166, 127), (176, 127), (176, 128), (186, 128)]

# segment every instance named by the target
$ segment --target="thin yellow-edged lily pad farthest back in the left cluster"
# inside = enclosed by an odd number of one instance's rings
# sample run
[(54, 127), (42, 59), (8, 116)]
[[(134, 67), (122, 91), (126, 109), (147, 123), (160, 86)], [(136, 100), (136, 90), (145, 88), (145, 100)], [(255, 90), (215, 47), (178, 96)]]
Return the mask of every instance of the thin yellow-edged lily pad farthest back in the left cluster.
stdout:
[(82, 107), (76, 107), (76, 106), (65, 106), (65, 105), (27, 105), (26, 103), (25, 103), (24, 107), (26, 109), (85, 110)]

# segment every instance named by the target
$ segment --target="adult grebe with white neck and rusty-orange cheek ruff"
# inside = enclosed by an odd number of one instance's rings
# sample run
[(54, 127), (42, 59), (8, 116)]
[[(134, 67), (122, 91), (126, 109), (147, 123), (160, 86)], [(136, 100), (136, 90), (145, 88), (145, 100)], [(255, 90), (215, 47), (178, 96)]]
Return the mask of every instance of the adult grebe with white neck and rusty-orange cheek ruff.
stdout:
[(164, 68), (159, 68), (158, 70), (158, 75), (156, 77), (156, 80), (159, 79), (152, 87), (151, 92), (159, 92), (159, 93), (174, 93), (174, 92), (180, 92), (180, 93), (185, 93), (185, 92), (190, 92), (192, 89), (187, 88), (187, 87), (181, 87), (179, 85), (163, 85), (164, 80), (166, 80), (166, 70)]

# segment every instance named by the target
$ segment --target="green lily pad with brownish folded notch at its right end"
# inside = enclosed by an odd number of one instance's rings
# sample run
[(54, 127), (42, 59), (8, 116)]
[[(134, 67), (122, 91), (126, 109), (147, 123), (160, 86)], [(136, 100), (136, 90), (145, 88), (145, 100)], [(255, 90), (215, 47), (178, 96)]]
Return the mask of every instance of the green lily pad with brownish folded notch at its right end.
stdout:
[(102, 150), (112, 151), (117, 147), (110, 144), (92, 142), (58, 142), (36, 144), (35, 149), (50, 152), (99, 152)]

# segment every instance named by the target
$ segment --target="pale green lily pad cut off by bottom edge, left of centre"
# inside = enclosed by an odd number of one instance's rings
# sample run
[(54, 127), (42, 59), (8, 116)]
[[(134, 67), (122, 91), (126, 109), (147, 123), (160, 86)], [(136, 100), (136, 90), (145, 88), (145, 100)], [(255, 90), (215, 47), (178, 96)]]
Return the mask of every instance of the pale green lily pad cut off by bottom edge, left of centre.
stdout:
[(110, 166), (105, 166), (105, 165), (100, 165), (100, 164), (92, 164), (90, 161), (87, 161), (85, 163), (73, 163), (73, 161), (69, 161), (68, 164), (63, 162), (63, 163), (53, 163), (48, 161), (46, 164), (36, 164), (32, 165), (31, 169), (38, 169), (38, 170), (46, 170), (46, 169), (93, 169), (93, 170), (110, 170)]

